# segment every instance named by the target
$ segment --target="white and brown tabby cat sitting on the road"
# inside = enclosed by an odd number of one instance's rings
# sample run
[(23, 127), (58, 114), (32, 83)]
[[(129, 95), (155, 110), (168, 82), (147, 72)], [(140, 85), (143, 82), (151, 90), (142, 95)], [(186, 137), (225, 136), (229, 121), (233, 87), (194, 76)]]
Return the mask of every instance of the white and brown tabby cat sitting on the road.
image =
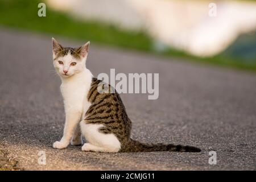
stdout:
[(60, 90), (66, 114), (63, 137), (53, 143), (54, 148), (66, 148), (69, 143), (82, 145), (85, 137), (82, 151), (201, 151), (192, 146), (146, 144), (131, 139), (131, 120), (119, 94), (98, 92), (104, 84), (85, 66), (89, 45), (90, 42), (79, 48), (63, 47), (52, 38), (53, 66), (62, 81)]

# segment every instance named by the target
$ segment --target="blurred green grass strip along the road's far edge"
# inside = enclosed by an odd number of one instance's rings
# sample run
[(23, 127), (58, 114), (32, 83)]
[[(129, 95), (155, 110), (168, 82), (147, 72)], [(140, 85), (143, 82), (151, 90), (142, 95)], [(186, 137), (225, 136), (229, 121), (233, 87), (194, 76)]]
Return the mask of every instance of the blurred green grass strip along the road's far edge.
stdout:
[(154, 40), (143, 31), (130, 32), (111, 24), (76, 19), (65, 13), (51, 10), (48, 6), (46, 17), (39, 17), (39, 2), (0, 0), (0, 26), (64, 36), (84, 42), (90, 40), (93, 43), (113, 47), (135, 49), (167, 57), (181, 57), (201, 64), (213, 64), (256, 72), (256, 49), (255, 51), (252, 50), (256, 48), (255, 32), (241, 36), (233, 46), (217, 56), (201, 58), (172, 48), (160, 52), (156, 51)]

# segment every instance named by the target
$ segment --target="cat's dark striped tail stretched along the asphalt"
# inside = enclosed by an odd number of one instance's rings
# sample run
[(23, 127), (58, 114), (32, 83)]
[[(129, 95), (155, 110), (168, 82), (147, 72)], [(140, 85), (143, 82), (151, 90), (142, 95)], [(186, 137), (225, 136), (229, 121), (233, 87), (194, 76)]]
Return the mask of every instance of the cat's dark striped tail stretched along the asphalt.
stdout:
[(172, 151), (172, 152), (201, 152), (200, 148), (193, 146), (181, 146), (174, 144), (147, 144), (130, 139), (128, 146), (123, 152), (152, 152), (152, 151)]

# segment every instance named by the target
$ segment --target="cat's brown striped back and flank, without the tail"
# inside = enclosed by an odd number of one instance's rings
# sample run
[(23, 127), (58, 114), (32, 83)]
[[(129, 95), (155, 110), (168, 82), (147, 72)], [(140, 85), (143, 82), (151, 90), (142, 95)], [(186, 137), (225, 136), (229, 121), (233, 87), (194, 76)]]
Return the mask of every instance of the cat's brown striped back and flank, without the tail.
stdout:
[[(106, 89), (105, 87), (108, 86)], [(108, 90), (103, 92), (102, 90)], [(131, 122), (127, 117), (125, 106), (114, 88), (97, 78), (92, 78), (91, 88), (88, 92), (90, 105), (85, 115), (86, 123), (104, 124), (103, 133), (123, 133), (130, 135)]]

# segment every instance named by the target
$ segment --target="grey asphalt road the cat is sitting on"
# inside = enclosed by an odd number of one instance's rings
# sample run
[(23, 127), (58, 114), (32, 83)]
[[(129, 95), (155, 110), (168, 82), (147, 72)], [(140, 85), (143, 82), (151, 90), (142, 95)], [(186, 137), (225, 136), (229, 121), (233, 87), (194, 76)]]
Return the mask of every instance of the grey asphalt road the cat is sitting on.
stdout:
[[(57, 37), (56, 37), (57, 38)], [(19, 169), (256, 169), (256, 75), (177, 59), (94, 46), (87, 67), (94, 76), (159, 73), (159, 98), (121, 94), (142, 142), (200, 147), (200, 153), (83, 152), (52, 148), (61, 138), (64, 107), (54, 73), (51, 37), (0, 29), (0, 155), (2, 168)], [(57, 39), (65, 46), (82, 44)], [(46, 165), (39, 164), (46, 152)], [(210, 165), (209, 151), (217, 164)], [(4, 154), (4, 155), (3, 155)], [(5, 159), (3, 159), (5, 158)], [(12, 163), (8, 163), (11, 161)]]

